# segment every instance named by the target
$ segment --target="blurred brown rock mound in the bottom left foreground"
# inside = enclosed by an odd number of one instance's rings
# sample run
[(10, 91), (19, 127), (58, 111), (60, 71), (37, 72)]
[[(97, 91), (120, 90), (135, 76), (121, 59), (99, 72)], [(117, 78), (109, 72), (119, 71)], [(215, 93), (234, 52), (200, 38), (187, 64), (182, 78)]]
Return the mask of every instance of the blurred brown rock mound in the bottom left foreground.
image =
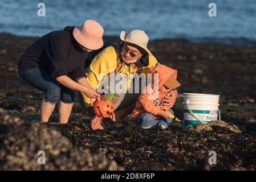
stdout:
[[(70, 140), (39, 122), (26, 123), (0, 109), (1, 170), (120, 170), (117, 163), (102, 154), (74, 147)], [(38, 164), (38, 152), (46, 164)]]

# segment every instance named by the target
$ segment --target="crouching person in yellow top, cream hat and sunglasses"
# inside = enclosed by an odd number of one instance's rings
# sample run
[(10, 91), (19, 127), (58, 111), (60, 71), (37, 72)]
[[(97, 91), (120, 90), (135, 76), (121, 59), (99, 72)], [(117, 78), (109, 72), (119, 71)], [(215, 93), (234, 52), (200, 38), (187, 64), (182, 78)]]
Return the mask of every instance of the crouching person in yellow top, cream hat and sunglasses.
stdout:
[[(147, 48), (148, 36), (144, 31), (132, 30), (127, 36), (122, 31), (120, 39), (122, 40), (121, 43), (108, 46), (97, 53), (86, 71), (88, 83), (97, 92), (101, 93), (101, 100), (105, 100), (110, 91), (115, 90), (115, 95), (112, 99), (115, 107), (113, 121), (130, 114), (135, 107), (140, 93), (131, 93), (128, 90), (131, 88), (131, 83), (136, 73), (145, 73), (147, 75), (151, 67), (159, 64)], [(122, 90), (123, 92), (116, 92), (116, 86), (121, 81), (118, 81), (115, 76), (111, 78), (109, 76), (111, 73), (124, 78), (125, 86)], [(172, 97), (166, 97), (166, 103), (172, 99)], [(96, 99), (91, 99), (90, 101), (90, 98), (85, 94), (78, 93), (78, 100), (83, 109), (87, 110), (90, 115), (92, 129), (103, 129), (101, 118), (94, 114), (94, 109), (91, 105)]]

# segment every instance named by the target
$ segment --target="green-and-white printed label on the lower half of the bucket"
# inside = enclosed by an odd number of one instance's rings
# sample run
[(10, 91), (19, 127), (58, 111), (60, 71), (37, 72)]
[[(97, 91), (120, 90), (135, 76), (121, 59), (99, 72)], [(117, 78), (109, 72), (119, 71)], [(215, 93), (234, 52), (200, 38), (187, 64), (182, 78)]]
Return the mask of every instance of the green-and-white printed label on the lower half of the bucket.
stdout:
[[(218, 111), (217, 110), (192, 110), (192, 112), (203, 122), (218, 120)], [(197, 121), (197, 119), (194, 118), (192, 114), (190, 114), (190, 111), (188, 109), (184, 110), (184, 120), (185, 121)]]

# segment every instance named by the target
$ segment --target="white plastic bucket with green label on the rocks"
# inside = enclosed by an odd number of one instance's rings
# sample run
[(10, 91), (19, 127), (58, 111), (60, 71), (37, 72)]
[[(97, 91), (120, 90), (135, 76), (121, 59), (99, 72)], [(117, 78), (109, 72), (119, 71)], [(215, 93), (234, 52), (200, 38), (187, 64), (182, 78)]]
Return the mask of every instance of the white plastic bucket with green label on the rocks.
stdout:
[(198, 123), (208, 123), (210, 121), (221, 120), (220, 110), (218, 109), (220, 95), (184, 93), (184, 122), (186, 126)]

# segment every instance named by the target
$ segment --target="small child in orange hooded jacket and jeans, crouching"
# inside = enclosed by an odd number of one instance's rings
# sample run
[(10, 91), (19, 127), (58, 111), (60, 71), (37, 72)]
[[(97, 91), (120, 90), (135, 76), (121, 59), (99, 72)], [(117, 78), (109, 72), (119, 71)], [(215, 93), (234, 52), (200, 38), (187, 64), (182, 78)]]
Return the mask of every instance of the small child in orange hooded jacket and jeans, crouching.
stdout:
[[(173, 114), (173, 110), (163, 105), (164, 97), (170, 90), (180, 86), (180, 83), (176, 80), (177, 70), (160, 64), (152, 67), (151, 73), (152, 83), (146, 86), (136, 102), (135, 109), (132, 111), (133, 122), (141, 125), (144, 129), (156, 125), (166, 129), (172, 122), (169, 112)], [(156, 77), (156, 74), (158, 74), (158, 77)]]

